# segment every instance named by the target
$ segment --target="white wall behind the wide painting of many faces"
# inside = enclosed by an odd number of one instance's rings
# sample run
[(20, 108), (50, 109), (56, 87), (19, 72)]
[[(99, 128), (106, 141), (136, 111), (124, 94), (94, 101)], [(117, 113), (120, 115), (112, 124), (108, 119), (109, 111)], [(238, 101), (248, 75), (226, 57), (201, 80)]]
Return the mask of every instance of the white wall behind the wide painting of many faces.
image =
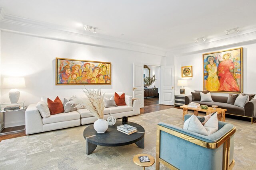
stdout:
[[(112, 85), (87, 85), (104, 92), (125, 92), (132, 96), (132, 63), (148, 61), (161, 64), (162, 57), (149, 53), (96, 47), (2, 31), (2, 78), (24, 76), (26, 88), (20, 88), (20, 100), (26, 106), (40, 101), (41, 96), (82, 94), (84, 86), (56, 86), (55, 58), (106, 61), (112, 63)], [(9, 89), (1, 88), (2, 101), (9, 101)], [(6, 122), (24, 124), (24, 113), (6, 115)], [(13, 121), (13, 123), (12, 123)], [(18, 123), (18, 121), (20, 123)]]

